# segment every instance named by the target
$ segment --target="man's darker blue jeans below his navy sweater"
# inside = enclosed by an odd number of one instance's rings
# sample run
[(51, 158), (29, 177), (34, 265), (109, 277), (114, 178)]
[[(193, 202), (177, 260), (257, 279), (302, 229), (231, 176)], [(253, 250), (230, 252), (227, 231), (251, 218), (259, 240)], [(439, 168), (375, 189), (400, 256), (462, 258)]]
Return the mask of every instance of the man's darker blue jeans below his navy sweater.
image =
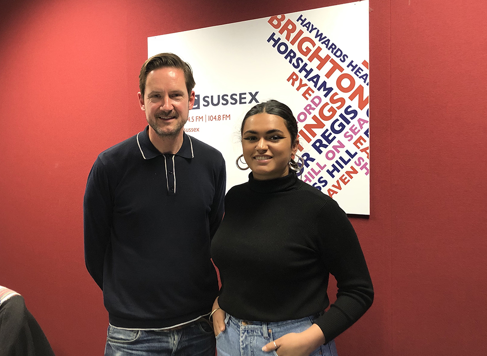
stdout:
[(169, 331), (108, 327), (105, 356), (215, 356), (213, 327), (205, 319)]

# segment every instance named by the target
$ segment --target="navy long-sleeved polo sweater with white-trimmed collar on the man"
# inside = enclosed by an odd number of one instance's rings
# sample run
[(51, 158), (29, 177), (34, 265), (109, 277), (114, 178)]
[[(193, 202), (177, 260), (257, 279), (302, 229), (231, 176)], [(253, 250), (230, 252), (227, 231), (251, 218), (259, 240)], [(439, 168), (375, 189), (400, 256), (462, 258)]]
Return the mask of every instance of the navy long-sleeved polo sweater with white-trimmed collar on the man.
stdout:
[(110, 323), (164, 328), (210, 312), (210, 239), (224, 213), (225, 161), (183, 137), (161, 154), (145, 131), (102, 152), (84, 197), (85, 261)]

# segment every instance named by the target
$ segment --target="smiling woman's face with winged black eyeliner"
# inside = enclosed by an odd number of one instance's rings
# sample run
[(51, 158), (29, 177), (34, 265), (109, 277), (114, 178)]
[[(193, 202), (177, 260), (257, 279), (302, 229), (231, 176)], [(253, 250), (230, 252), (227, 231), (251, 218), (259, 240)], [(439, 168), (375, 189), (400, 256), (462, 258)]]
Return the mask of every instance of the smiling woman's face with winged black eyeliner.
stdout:
[(298, 150), (298, 140), (291, 145), (280, 116), (260, 113), (245, 120), (242, 148), (255, 179), (274, 179), (289, 174), (288, 162)]

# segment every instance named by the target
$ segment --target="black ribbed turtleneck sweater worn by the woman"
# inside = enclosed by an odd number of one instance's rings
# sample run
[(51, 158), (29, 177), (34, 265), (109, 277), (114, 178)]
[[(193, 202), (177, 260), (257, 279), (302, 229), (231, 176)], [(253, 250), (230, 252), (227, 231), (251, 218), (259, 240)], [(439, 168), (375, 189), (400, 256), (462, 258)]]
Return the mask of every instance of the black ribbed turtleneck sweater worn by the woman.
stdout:
[(322, 312), (331, 273), (337, 300), (315, 323), (330, 341), (371, 306), (372, 281), (352, 224), (337, 202), (288, 176), (230, 189), (211, 244), (220, 307), (245, 320), (282, 321)]

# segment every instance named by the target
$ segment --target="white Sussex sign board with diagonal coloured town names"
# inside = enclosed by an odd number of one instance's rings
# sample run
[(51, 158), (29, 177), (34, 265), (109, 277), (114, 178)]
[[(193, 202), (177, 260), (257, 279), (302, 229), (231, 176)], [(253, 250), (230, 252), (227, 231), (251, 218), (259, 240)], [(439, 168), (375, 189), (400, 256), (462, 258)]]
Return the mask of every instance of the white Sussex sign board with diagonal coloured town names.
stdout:
[(249, 173), (235, 166), (245, 113), (276, 99), (298, 119), (300, 178), (370, 214), (368, 0), (148, 38), (161, 52), (193, 68), (185, 131), (222, 152), (227, 189)]

